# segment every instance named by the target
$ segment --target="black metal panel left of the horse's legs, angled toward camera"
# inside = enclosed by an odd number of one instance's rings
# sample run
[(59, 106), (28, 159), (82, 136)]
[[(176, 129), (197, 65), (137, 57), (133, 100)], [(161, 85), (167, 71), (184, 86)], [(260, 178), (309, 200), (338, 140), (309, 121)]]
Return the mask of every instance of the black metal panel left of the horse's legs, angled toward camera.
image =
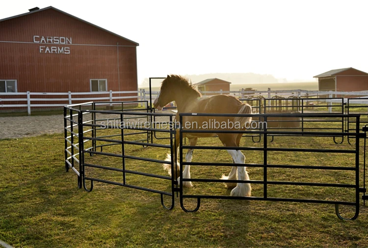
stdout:
[[(83, 127), (87, 127), (87, 128), (102, 128), (102, 124), (91, 124), (91, 123), (84, 123), (83, 122), (83, 113), (84, 112), (91, 112), (93, 114), (96, 113), (112, 113), (111, 110), (82, 110), (79, 112), (79, 118), (80, 119), (80, 125), (81, 129), (83, 129)], [(150, 112), (137, 112), (137, 111), (113, 111), (114, 114), (119, 115), (119, 119), (120, 122), (123, 123), (124, 120), (127, 119), (127, 117), (125, 117), (125, 115), (137, 115), (137, 116), (147, 116), (152, 117), (153, 115), (155, 116), (168, 116), (170, 119), (170, 122), (172, 122), (172, 115), (170, 114), (154, 114), (154, 113), (150, 113)], [(153, 173), (146, 173), (146, 172), (142, 172), (142, 171), (138, 171), (138, 170), (131, 170), (131, 169), (127, 169), (126, 168), (126, 159), (129, 160), (136, 160), (136, 161), (146, 161), (146, 162), (151, 162), (151, 163), (156, 163), (158, 165), (165, 163), (165, 164), (171, 164), (171, 171), (174, 171), (176, 169), (176, 164), (174, 163), (174, 156), (175, 156), (175, 152), (173, 151), (173, 140), (175, 139), (175, 131), (173, 130), (173, 128), (171, 129), (157, 129), (157, 128), (151, 128), (151, 127), (142, 127), (142, 126), (135, 126), (135, 127), (130, 127), (130, 126), (126, 126), (126, 127), (116, 127), (113, 125), (110, 126), (106, 126), (105, 128), (110, 128), (110, 129), (115, 129), (115, 130), (120, 130), (120, 136), (119, 139), (116, 139), (117, 135), (109, 135), (109, 136), (103, 136), (103, 137), (83, 137), (83, 134), (79, 134), (79, 138), (80, 140), (92, 140), (94, 142), (96, 141), (101, 141), (101, 142), (105, 142), (107, 144), (102, 144), (96, 147), (102, 147), (102, 146), (108, 146), (108, 145), (121, 145), (121, 151), (119, 154), (116, 153), (108, 153), (108, 152), (103, 152), (103, 151), (96, 151), (94, 149), (82, 149), (82, 158), (83, 160), (81, 161), (81, 180), (82, 180), (82, 185), (83, 188), (90, 192), (93, 190), (93, 185), (94, 182), (102, 182), (102, 183), (107, 183), (107, 184), (113, 184), (113, 185), (118, 185), (118, 186), (123, 186), (123, 187), (128, 187), (128, 188), (132, 188), (132, 189), (138, 189), (138, 190), (143, 190), (143, 191), (148, 191), (148, 192), (152, 192), (152, 193), (158, 193), (161, 195), (161, 204), (164, 208), (166, 209), (172, 209), (174, 207), (174, 200), (175, 200), (175, 192), (178, 191), (178, 183), (177, 183), (177, 179), (174, 178), (174, 174), (172, 176), (162, 176), (162, 175), (157, 175), (157, 174), (153, 174)], [(134, 133), (126, 133), (126, 131), (135, 131)], [(164, 145), (164, 144), (157, 144), (154, 142), (149, 142), (148, 139), (144, 139), (144, 140), (126, 140), (127, 136), (134, 136), (134, 135), (141, 135), (141, 134), (150, 134), (152, 132), (162, 132), (162, 133), (167, 133), (170, 135), (170, 145)], [(127, 153), (127, 149), (126, 149), (126, 145), (143, 145), (144, 147), (160, 147), (160, 148), (165, 148), (167, 149), (168, 153), (171, 154), (171, 161), (167, 162), (167, 161), (163, 161), (163, 160), (157, 160), (157, 159), (150, 159), (150, 158), (143, 158), (143, 157), (138, 157), (138, 156), (132, 156), (129, 155)], [(89, 155), (99, 155), (99, 156), (107, 156), (107, 157), (117, 157), (121, 159), (121, 164), (120, 166), (117, 167), (110, 167), (110, 166), (102, 166), (102, 165), (94, 165), (91, 163), (85, 163), (84, 161), (84, 156), (85, 154), (89, 154)], [(174, 166), (175, 165), (175, 166)], [(88, 168), (97, 168), (99, 170), (102, 171), (117, 171), (117, 172), (121, 172), (122, 173), (122, 177), (120, 179), (120, 181), (112, 181), (112, 180), (105, 180), (105, 179), (101, 179), (99, 177), (96, 176), (92, 176), (92, 175), (88, 175)], [(159, 180), (165, 180), (165, 181), (170, 181), (170, 185), (171, 185), (171, 189), (170, 191), (162, 191), (162, 190), (156, 190), (156, 189), (150, 189), (150, 188), (146, 188), (146, 187), (141, 187), (138, 185), (132, 185), (127, 183), (127, 178), (130, 177), (130, 175), (140, 175), (140, 176), (146, 176), (146, 177), (153, 177), (153, 178), (157, 178)], [(90, 186), (87, 187), (86, 184), (86, 180), (90, 181)], [(171, 197), (171, 205), (166, 206), (164, 204), (163, 201), (163, 196), (167, 195)]]

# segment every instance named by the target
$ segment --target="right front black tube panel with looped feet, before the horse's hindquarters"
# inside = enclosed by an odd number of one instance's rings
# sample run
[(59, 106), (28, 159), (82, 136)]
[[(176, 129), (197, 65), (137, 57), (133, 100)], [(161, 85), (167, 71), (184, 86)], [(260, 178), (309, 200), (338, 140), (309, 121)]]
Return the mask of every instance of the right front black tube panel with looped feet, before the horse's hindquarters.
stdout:
[[(300, 115), (300, 114), (292, 114), (292, 116)], [(220, 164), (220, 163), (187, 163), (183, 161), (184, 152), (183, 149), (190, 149), (193, 148), (191, 146), (184, 146), (183, 145), (183, 133), (218, 133), (216, 130), (183, 130), (183, 116), (252, 116), (251, 114), (211, 114), (211, 113), (180, 113), (180, 185), (183, 185), (183, 181), (191, 181), (191, 182), (229, 182), (229, 183), (256, 183), (256, 184), (263, 184), (263, 197), (238, 197), (238, 196), (225, 196), (225, 195), (184, 195), (183, 187), (180, 188), (180, 204), (182, 209), (185, 212), (195, 212), (200, 207), (201, 198), (215, 198), (215, 199), (244, 199), (244, 200), (268, 200), (268, 201), (288, 201), (288, 202), (305, 202), (305, 203), (326, 203), (326, 204), (335, 204), (335, 212), (339, 219), (341, 220), (355, 220), (359, 215), (359, 193), (362, 192), (362, 189), (359, 187), (359, 138), (365, 138), (364, 134), (359, 132), (359, 123), (360, 123), (360, 115), (348, 115), (344, 116), (343, 114), (302, 114), (305, 117), (355, 117), (356, 118), (356, 132), (350, 134), (342, 134), (343, 136), (353, 136), (356, 139), (355, 149), (354, 150), (333, 150), (333, 149), (303, 149), (303, 148), (268, 148), (267, 147), (267, 135), (268, 134), (275, 134), (276, 131), (268, 131), (267, 128), (263, 130), (263, 148), (260, 147), (208, 147), (208, 146), (195, 146), (196, 149), (216, 149), (216, 150), (229, 150), (229, 149), (238, 149), (238, 150), (263, 150), (263, 165), (257, 164), (252, 165), (252, 167), (263, 167), (263, 181), (246, 181), (246, 180), (221, 180), (221, 179), (184, 179), (183, 178), (183, 166), (184, 165), (227, 165), (227, 166), (249, 166), (250, 164)], [(265, 121), (267, 121), (267, 117), (269, 116), (290, 116), (290, 114), (259, 114), (258, 116), (262, 116)], [(225, 131), (221, 130), (221, 133), (247, 133), (246, 131)], [(313, 133), (316, 135), (315, 133)], [(333, 133), (322, 133), (321, 135), (331, 136), (334, 135)], [(339, 168), (340, 170), (354, 170), (355, 171), (355, 184), (348, 185), (348, 184), (330, 184), (330, 183), (306, 183), (306, 182), (285, 182), (285, 181), (267, 181), (267, 168), (268, 167), (276, 167), (276, 168), (305, 168), (305, 169), (326, 169), (326, 166), (308, 166), (308, 165), (268, 165), (267, 163), (267, 151), (305, 151), (305, 152), (340, 152), (340, 153), (352, 153), (355, 154), (355, 167), (343, 167)], [(336, 169), (335, 167), (331, 167), (330, 169)], [(340, 188), (354, 188), (355, 189), (355, 202), (346, 202), (346, 201), (332, 201), (332, 200), (315, 200), (315, 199), (298, 199), (298, 198), (277, 198), (277, 197), (268, 197), (267, 196), (267, 185), (302, 185), (302, 186), (319, 186), (319, 187), (340, 187)], [(194, 210), (187, 210), (184, 207), (183, 199), (184, 198), (196, 198), (197, 199), (197, 206)], [(351, 205), (355, 206), (355, 214), (352, 218), (347, 219), (343, 218), (339, 213), (339, 205)]]

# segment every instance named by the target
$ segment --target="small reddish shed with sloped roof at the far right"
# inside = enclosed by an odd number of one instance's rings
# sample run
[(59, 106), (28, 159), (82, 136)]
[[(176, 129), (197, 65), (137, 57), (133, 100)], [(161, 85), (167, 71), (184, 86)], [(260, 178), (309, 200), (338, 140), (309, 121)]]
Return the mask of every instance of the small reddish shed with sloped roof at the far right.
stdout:
[(351, 67), (331, 70), (314, 76), (314, 78), (318, 78), (318, 90), (368, 90), (368, 73)]

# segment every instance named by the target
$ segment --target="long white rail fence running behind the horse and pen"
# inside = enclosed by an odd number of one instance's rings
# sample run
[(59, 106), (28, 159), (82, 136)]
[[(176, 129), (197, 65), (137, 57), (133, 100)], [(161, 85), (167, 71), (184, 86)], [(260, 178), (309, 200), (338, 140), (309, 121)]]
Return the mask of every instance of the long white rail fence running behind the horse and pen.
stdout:
[[(216, 94), (233, 95), (237, 98), (253, 98), (263, 96), (264, 98), (272, 98), (273, 96), (296, 96), (296, 97), (318, 97), (327, 96), (329, 98), (339, 96), (359, 96), (368, 97), (368, 91), (359, 92), (340, 92), (340, 91), (309, 91), (309, 90), (266, 90), (266, 91), (205, 91), (201, 92), (204, 97)], [(209, 95), (205, 95), (209, 94)], [(96, 97), (92, 95), (102, 95)], [(122, 96), (123, 95), (123, 96)], [(158, 91), (152, 91), (152, 102), (156, 99)], [(42, 97), (40, 97), (42, 96)], [(57, 98), (55, 98), (57, 96)], [(22, 98), (23, 97), (23, 98)], [(139, 91), (108, 91), (108, 92), (65, 92), (65, 93), (44, 93), (44, 92), (16, 92), (16, 93), (0, 93), (0, 110), (1, 108), (26, 108), (28, 114), (31, 113), (31, 108), (53, 108), (63, 107), (65, 105), (74, 104), (76, 102), (90, 101), (124, 101), (124, 99), (134, 99), (136, 101), (150, 101), (150, 92), (145, 89)], [(40, 103), (40, 102), (58, 102)], [(13, 102), (13, 103), (10, 103)], [(15, 103), (14, 103), (15, 102)], [(32, 103), (33, 102), (33, 103)], [(37, 102), (37, 103), (35, 103)]]

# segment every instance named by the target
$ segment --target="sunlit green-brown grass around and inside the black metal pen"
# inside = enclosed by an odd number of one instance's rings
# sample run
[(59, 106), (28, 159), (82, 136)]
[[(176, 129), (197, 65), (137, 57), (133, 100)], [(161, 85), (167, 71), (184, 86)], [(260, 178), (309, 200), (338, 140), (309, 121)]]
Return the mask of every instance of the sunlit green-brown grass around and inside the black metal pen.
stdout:
[[(308, 124), (311, 127), (316, 123)], [(329, 124), (331, 126), (331, 124)], [(336, 124), (338, 125), (338, 124)], [(325, 124), (327, 126), (327, 124)], [(104, 131), (111, 134), (111, 130)], [(115, 131), (116, 132), (116, 131)], [(117, 131), (119, 132), (119, 131)], [(101, 135), (104, 133), (101, 132)], [(140, 137), (144, 138), (144, 137)], [(130, 136), (130, 139), (135, 139)], [(165, 139), (156, 140), (167, 144)], [(243, 138), (243, 146), (262, 146)], [(276, 137), (271, 147), (353, 149), (332, 138)], [(198, 145), (220, 145), (217, 138), (200, 139)], [(86, 143), (88, 147), (88, 142)], [(155, 193), (95, 183), (90, 193), (79, 190), (73, 171), (64, 171), (62, 134), (33, 138), (1, 139), (0, 240), (14, 247), (368, 247), (367, 207), (361, 203), (357, 220), (339, 220), (333, 205), (243, 200), (202, 200), (196, 213), (185, 213), (177, 198), (172, 211), (164, 210)], [(120, 146), (105, 152), (119, 154)], [(164, 159), (167, 149), (127, 145), (126, 154)], [(244, 152), (247, 163), (262, 163), (263, 153)], [(361, 159), (362, 157), (361, 153)], [(121, 159), (86, 156), (86, 163), (121, 167)], [(231, 163), (226, 151), (195, 150), (193, 161)], [(135, 160), (126, 168), (165, 175), (161, 165)], [(268, 163), (290, 165), (354, 166), (353, 154), (269, 152)], [(251, 180), (263, 179), (263, 168), (248, 168)], [(229, 167), (192, 166), (192, 178), (218, 179)], [(363, 172), (363, 169), (361, 169)], [(122, 181), (119, 172), (87, 168), (86, 174)], [(352, 183), (354, 174), (344, 171), (269, 169), (269, 180)], [(132, 185), (168, 191), (170, 184), (139, 175), (127, 176)], [(361, 173), (362, 182), (362, 173)], [(253, 184), (253, 196), (263, 196)], [(230, 195), (221, 183), (194, 183), (185, 194)], [(270, 197), (302, 197), (353, 200), (351, 190), (269, 186)], [(169, 199), (165, 198), (169, 204)], [(190, 209), (193, 203), (184, 202)], [(351, 207), (341, 207), (352, 217)]]

